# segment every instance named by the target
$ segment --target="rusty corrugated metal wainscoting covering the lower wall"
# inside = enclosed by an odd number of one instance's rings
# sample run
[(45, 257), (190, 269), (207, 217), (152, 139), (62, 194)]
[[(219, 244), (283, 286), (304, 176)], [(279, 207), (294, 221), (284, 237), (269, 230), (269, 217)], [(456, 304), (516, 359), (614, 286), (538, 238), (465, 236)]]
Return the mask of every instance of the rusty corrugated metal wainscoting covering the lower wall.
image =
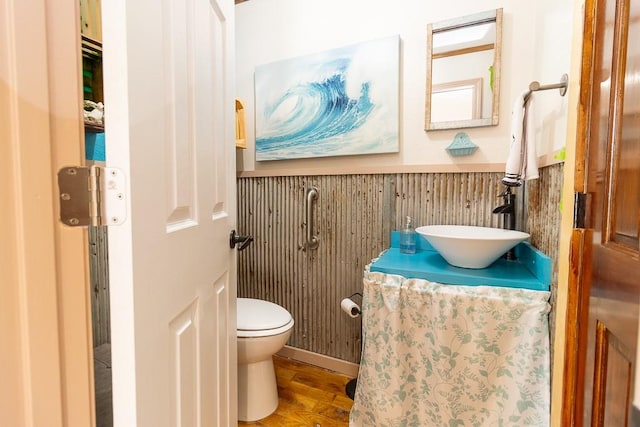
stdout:
[[(543, 176), (559, 176), (551, 179), (561, 182), (562, 169), (548, 169), (541, 171)], [(361, 292), (363, 269), (389, 246), (390, 231), (400, 228), (407, 215), (417, 226), (499, 227), (500, 219), (492, 210), (501, 202), (497, 196), (503, 189), (502, 176), (411, 173), (240, 178), (238, 232), (253, 235), (255, 242), (239, 253), (238, 295), (287, 308), (296, 321), (289, 345), (358, 363), (360, 320), (343, 313), (340, 301)], [(548, 186), (546, 181), (542, 185)], [(305, 189), (310, 186), (319, 192), (314, 212), (314, 233), (320, 238), (317, 250), (304, 245)], [(547, 192), (535, 191), (536, 206), (550, 205), (545, 198), (551, 196), (546, 194), (556, 187), (548, 188)], [(518, 209), (523, 205), (519, 203)], [(549, 217), (546, 211), (528, 215), (536, 227), (540, 221), (550, 221), (541, 229), (554, 236), (560, 226), (556, 218), (559, 216)], [(550, 240), (538, 234), (532, 233), (534, 242)]]

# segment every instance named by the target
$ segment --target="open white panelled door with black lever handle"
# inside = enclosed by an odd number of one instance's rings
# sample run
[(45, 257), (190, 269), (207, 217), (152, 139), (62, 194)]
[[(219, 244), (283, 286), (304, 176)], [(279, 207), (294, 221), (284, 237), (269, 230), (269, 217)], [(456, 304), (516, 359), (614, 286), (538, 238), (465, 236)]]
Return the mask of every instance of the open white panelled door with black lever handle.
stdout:
[(114, 425), (235, 425), (234, 4), (102, 7)]

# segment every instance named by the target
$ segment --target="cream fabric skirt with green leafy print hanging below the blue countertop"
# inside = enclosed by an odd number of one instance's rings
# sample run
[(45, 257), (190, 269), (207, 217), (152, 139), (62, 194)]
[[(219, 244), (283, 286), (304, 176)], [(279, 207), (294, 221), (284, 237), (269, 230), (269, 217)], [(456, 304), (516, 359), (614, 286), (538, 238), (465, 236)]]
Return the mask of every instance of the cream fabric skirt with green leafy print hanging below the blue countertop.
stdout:
[(351, 426), (548, 426), (549, 292), (369, 272)]

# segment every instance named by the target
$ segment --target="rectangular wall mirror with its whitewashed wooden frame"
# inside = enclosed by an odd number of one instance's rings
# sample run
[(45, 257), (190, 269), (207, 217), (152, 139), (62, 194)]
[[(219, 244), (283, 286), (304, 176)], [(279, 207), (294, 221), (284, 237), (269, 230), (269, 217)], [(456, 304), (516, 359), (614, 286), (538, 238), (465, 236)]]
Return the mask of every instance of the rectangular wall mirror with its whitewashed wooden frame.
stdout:
[(502, 9), (427, 26), (425, 130), (496, 126)]

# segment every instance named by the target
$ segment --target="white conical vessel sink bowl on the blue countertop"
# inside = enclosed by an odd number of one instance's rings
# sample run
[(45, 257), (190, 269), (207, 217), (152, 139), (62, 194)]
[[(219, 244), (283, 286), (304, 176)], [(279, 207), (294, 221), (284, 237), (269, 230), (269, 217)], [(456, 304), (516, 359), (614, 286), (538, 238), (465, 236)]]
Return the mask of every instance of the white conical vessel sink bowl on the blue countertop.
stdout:
[(521, 231), (471, 225), (425, 225), (416, 228), (451, 265), (485, 268), (529, 238)]

